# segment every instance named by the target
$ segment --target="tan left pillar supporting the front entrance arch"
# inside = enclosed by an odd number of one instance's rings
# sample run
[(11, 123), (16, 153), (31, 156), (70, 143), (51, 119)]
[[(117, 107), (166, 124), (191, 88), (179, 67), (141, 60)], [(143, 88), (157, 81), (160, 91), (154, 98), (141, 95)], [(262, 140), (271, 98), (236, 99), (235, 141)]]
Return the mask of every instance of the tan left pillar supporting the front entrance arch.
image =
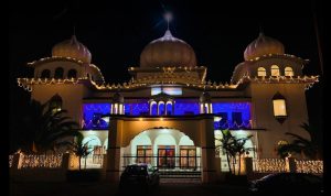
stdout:
[(106, 178), (110, 182), (119, 182), (121, 174), (120, 148), (122, 140), (122, 124), (120, 119), (111, 119), (108, 133), (108, 150), (106, 161)]

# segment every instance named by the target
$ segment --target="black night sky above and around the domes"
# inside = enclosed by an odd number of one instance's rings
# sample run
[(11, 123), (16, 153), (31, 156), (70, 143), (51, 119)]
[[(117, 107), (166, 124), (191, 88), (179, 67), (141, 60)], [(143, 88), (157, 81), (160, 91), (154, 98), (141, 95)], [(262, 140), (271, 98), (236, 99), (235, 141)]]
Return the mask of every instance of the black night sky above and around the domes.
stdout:
[[(234, 67), (244, 61), (245, 47), (258, 36), (261, 28), (267, 36), (279, 40), (287, 54), (310, 59), (306, 75), (321, 75), (313, 23), (319, 4), (310, 1), (22, 1), (10, 3), (10, 102), (14, 113), (29, 94), (18, 88), (17, 77), (31, 77), (26, 63), (51, 56), (52, 46), (67, 40), (76, 29), (79, 42), (92, 53), (107, 83), (124, 83), (129, 66), (139, 66), (143, 47), (164, 34), (166, 11), (173, 14), (172, 34), (195, 51), (199, 66), (207, 67), (207, 79), (229, 81)], [(213, 3), (212, 3), (213, 2)], [(223, 2), (223, 1), (222, 1)], [(320, 30), (321, 31), (321, 30)], [(321, 123), (321, 85), (307, 91), (310, 120)]]

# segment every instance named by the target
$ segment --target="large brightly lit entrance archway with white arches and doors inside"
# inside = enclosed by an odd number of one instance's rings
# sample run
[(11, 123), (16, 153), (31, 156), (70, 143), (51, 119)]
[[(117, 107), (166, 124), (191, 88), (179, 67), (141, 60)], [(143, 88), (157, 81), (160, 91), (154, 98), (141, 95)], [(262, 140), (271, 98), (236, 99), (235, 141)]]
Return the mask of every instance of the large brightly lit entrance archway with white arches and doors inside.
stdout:
[(137, 134), (124, 151), (124, 166), (147, 163), (160, 170), (199, 170), (201, 148), (183, 132), (148, 129)]

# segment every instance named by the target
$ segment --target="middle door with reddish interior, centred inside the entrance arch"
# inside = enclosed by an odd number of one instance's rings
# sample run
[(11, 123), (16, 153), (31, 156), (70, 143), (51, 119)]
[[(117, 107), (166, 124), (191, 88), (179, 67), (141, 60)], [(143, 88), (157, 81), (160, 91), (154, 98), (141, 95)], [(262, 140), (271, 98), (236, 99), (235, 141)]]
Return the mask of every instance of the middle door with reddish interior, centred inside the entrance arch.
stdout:
[(158, 167), (159, 168), (174, 168), (174, 145), (159, 145), (158, 146)]

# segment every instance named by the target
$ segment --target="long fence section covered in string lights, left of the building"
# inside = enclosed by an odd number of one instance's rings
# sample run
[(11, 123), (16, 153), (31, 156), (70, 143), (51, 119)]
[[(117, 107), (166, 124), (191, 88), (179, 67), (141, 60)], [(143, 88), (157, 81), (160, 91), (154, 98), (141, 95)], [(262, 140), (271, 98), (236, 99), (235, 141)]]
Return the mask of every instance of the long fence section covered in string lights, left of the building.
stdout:
[(18, 168), (58, 168), (63, 154), (21, 154)]

